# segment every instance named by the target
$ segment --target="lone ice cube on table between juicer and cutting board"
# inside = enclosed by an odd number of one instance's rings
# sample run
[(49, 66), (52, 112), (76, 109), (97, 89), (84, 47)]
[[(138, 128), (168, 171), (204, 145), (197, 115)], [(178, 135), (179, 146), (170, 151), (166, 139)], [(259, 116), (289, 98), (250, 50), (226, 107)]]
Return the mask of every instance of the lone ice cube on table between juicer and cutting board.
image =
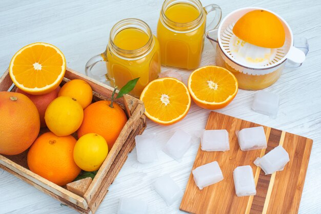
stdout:
[(254, 95), (252, 109), (276, 118), (279, 105), (278, 95), (267, 91), (258, 91)]

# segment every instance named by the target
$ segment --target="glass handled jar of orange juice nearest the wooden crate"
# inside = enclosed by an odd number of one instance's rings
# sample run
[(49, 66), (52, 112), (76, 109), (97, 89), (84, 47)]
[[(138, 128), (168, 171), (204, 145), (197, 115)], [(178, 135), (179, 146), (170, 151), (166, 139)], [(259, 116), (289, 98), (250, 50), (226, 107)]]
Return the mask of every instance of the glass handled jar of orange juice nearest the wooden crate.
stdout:
[[(97, 62), (106, 62), (107, 72), (95, 75), (91, 69)], [(110, 31), (104, 53), (93, 56), (86, 64), (86, 75), (111, 86), (122, 88), (128, 81), (139, 80), (131, 95), (139, 97), (145, 86), (157, 79), (160, 72), (160, 51), (150, 27), (136, 18), (116, 23)]]

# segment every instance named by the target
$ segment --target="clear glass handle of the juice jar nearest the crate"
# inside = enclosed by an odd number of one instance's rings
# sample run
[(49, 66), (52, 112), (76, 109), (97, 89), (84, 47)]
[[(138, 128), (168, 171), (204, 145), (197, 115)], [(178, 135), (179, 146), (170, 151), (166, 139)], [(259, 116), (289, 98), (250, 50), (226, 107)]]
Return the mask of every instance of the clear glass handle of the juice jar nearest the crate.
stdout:
[(93, 79), (103, 83), (103, 82), (107, 82), (110, 81), (108, 74), (106, 72), (106, 74), (103, 75), (96, 75), (93, 74), (91, 69), (94, 67), (94, 65), (96, 65), (98, 62), (108, 62), (107, 57), (106, 57), (106, 51), (104, 53), (95, 55), (93, 57), (90, 58), (90, 60), (86, 63), (85, 66), (85, 73), (87, 76), (93, 77)]

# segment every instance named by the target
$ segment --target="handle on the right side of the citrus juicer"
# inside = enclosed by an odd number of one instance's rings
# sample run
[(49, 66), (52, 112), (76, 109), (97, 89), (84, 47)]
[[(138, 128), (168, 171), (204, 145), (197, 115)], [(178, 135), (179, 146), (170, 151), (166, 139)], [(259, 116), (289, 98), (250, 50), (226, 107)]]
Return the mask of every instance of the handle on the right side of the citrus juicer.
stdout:
[(287, 54), (286, 67), (300, 67), (309, 52), (309, 44), (306, 37), (294, 37), (294, 45), (290, 47)]

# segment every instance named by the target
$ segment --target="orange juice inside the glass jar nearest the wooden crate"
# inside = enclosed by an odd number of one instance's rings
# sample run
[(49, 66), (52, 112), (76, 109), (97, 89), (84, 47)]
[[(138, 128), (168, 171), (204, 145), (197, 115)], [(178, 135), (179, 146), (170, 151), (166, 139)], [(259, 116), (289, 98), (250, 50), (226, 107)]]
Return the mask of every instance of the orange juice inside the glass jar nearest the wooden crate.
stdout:
[(122, 88), (128, 81), (139, 77), (131, 91), (139, 96), (145, 86), (160, 72), (160, 54), (157, 38), (138, 28), (125, 28), (113, 38), (106, 51), (107, 77), (113, 87)]

